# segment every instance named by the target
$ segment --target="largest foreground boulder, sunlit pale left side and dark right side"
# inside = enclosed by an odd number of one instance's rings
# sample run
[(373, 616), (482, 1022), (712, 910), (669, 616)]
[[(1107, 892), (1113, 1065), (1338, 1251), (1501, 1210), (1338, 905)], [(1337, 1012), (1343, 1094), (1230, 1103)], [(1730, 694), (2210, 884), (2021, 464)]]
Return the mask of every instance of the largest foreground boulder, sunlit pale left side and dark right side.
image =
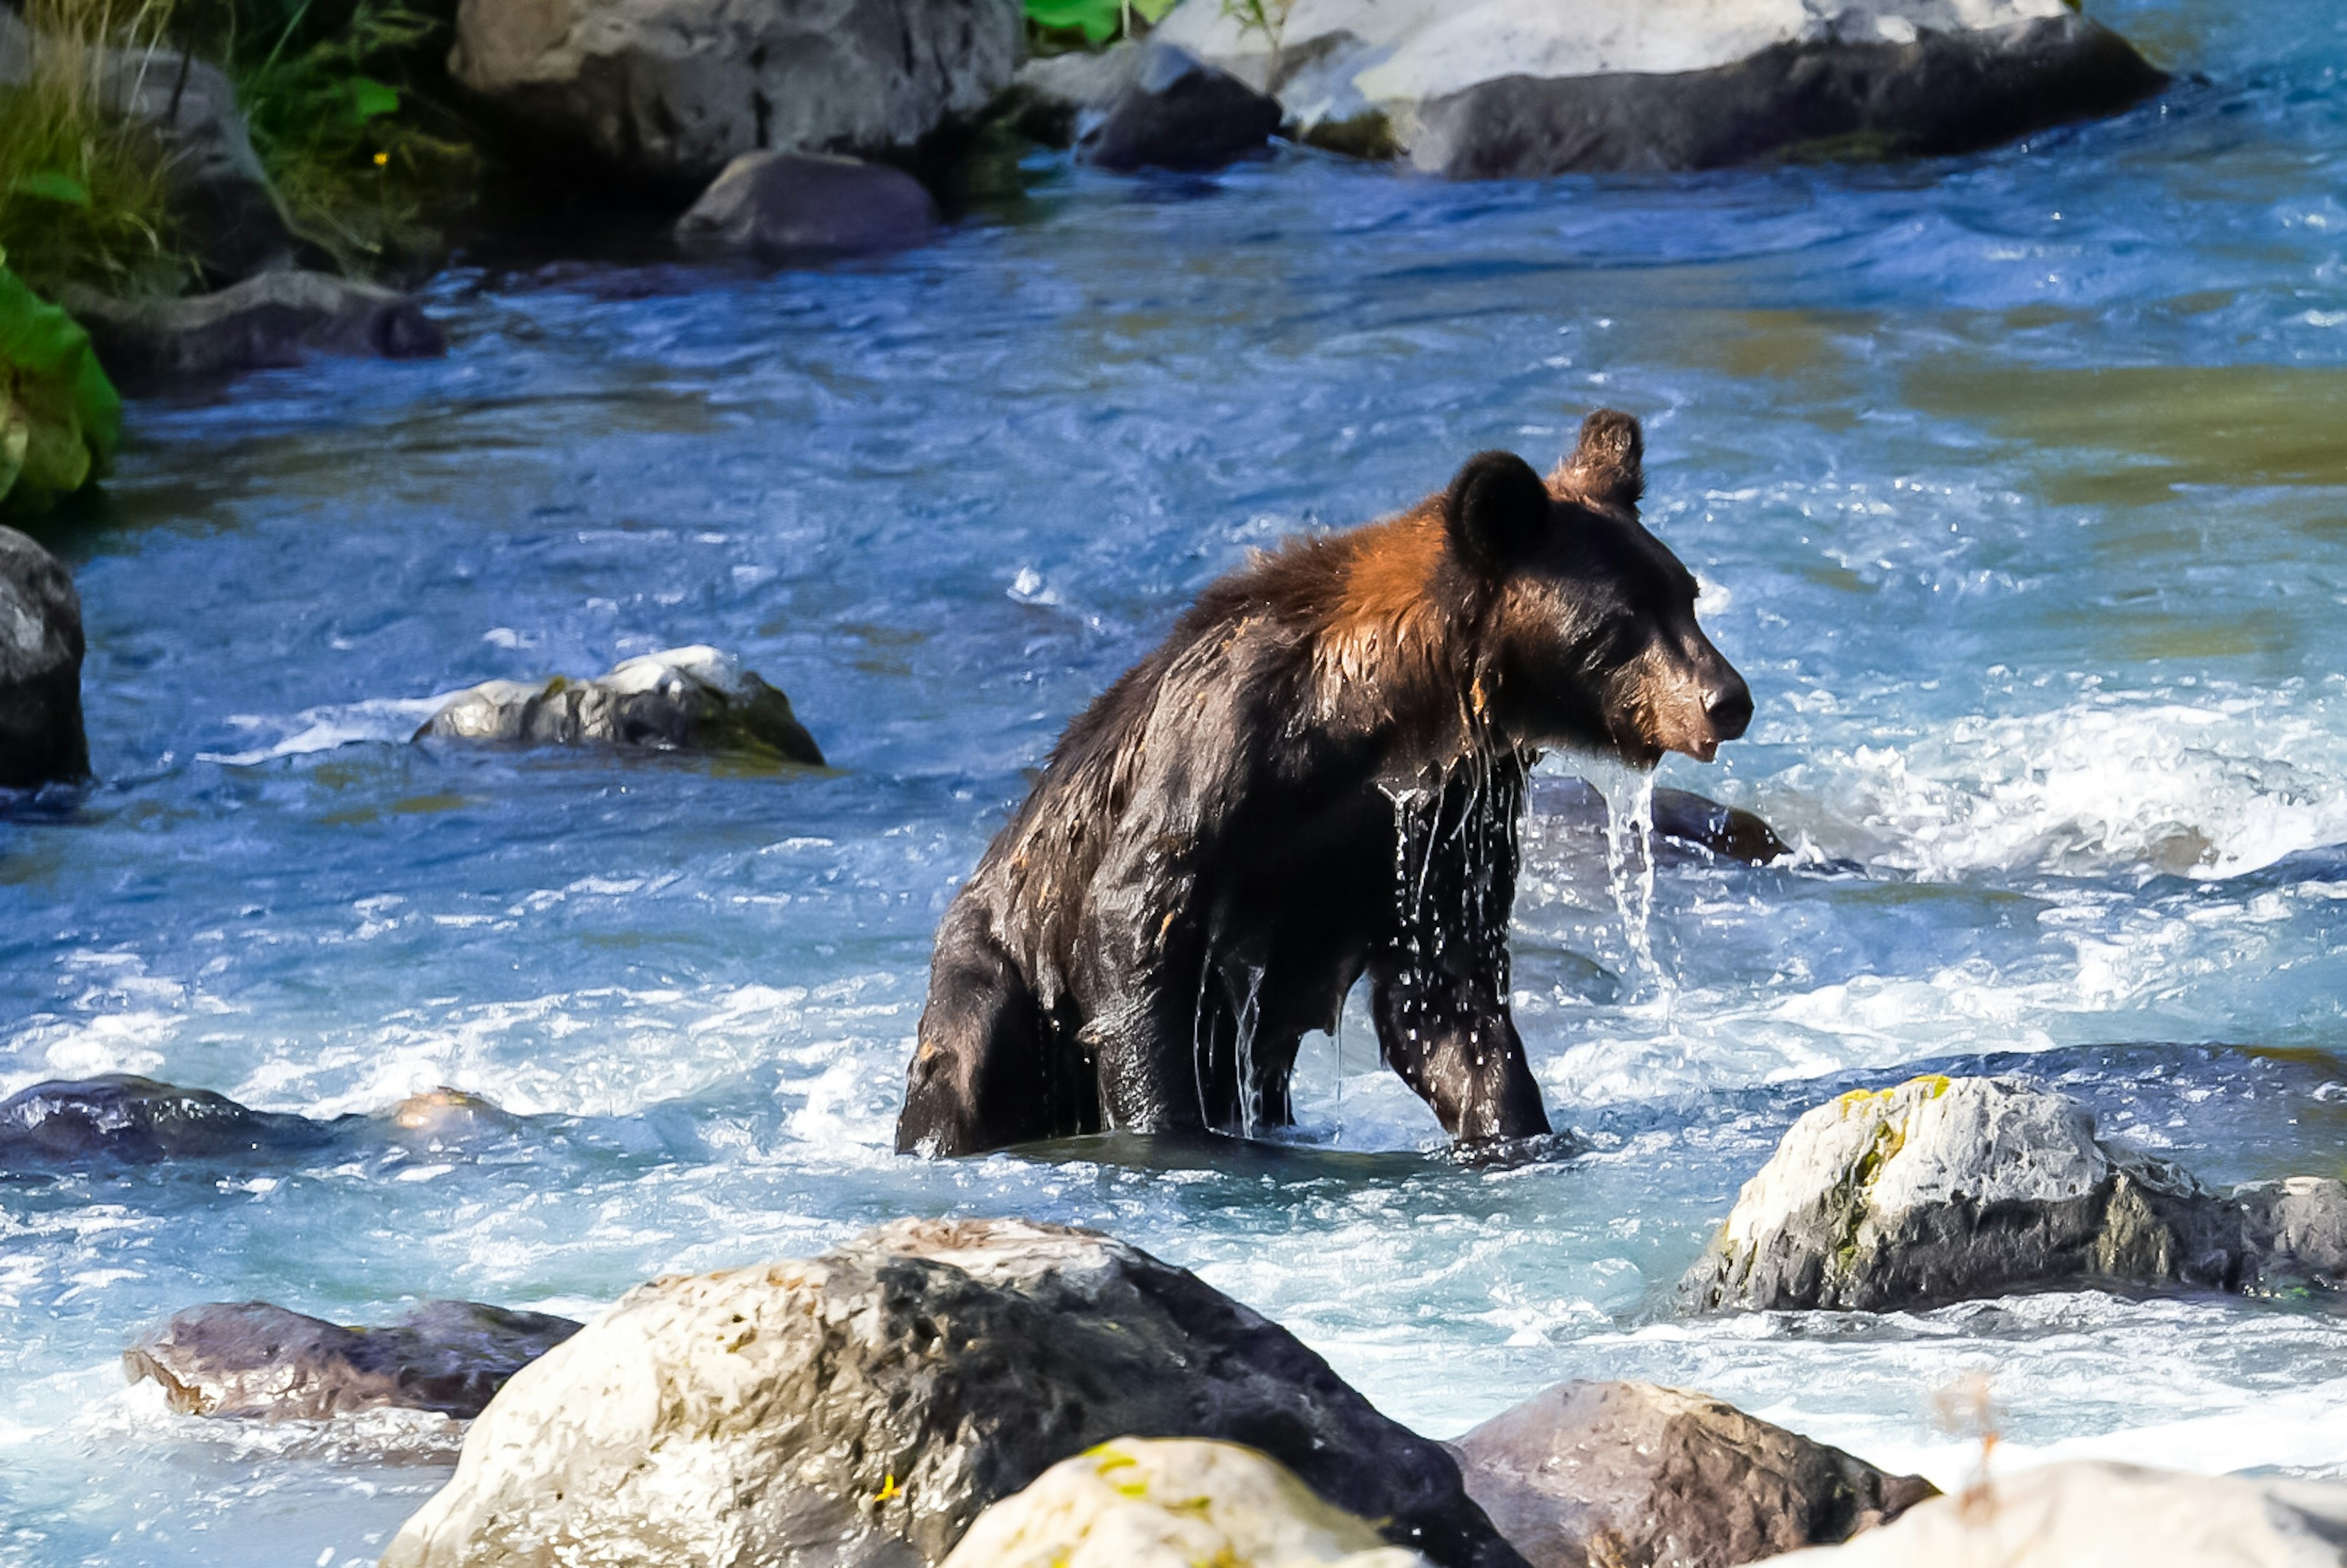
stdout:
[(629, 1291), (491, 1401), (383, 1563), (939, 1563), (988, 1505), (1124, 1434), (1249, 1444), (1434, 1563), (1523, 1563), (1439, 1444), (1284, 1329), (1026, 1221), (899, 1221)]

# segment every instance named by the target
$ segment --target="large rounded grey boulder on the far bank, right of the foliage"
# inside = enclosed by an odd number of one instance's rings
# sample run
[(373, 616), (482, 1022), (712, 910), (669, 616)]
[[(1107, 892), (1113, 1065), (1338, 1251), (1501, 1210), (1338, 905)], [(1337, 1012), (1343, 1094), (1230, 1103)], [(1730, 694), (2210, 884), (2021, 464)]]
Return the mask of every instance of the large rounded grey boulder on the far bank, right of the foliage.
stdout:
[(655, 181), (744, 153), (908, 150), (1019, 66), (1019, 0), (462, 0), (448, 68)]

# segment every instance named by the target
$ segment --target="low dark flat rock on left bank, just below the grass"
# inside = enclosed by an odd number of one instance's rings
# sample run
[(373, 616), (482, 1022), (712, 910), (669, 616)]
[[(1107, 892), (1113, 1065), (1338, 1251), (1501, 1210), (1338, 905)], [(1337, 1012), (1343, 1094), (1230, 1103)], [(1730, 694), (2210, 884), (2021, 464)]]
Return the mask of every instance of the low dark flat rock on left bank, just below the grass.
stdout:
[(218, 293), (115, 300), (66, 296), (108, 369), (127, 376), (228, 376), (310, 354), (420, 359), (444, 352), (439, 326), (406, 293), (324, 272), (263, 272)]

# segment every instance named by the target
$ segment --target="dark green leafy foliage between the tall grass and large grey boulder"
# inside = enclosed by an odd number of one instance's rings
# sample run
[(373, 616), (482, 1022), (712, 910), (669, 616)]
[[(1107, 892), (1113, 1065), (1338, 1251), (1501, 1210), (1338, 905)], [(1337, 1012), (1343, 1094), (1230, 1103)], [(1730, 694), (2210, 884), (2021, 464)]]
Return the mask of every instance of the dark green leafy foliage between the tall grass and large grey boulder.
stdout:
[(418, 87), (437, 85), (446, 23), (399, 0), (359, 0), (319, 31), (300, 5), (265, 42), (258, 59), (235, 49), (232, 73), (293, 228), (350, 272), (430, 254), (479, 174), (462, 122)]

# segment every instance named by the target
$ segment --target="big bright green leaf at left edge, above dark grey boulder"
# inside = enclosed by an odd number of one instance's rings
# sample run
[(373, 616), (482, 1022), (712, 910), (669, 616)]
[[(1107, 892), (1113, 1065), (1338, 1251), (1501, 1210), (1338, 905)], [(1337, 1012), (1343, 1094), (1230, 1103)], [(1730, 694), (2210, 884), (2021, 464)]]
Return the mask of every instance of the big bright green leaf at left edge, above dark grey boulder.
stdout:
[(122, 399), (73, 317), (0, 265), (0, 505), (40, 509), (115, 455)]

